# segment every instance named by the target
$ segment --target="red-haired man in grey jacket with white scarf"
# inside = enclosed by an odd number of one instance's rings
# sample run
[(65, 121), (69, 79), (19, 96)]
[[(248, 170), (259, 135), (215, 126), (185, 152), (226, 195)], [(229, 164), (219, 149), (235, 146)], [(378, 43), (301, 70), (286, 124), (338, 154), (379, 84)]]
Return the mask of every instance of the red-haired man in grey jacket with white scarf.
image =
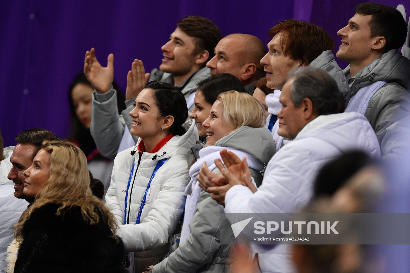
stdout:
[(268, 43), (268, 53), (260, 63), (266, 72), (266, 86), (276, 89), (266, 96), (265, 102), (271, 114), (266, 127), (272, 132), (276, 151), (282, 146), (283, 137), (278, 135), (277, 113), (280, 90), (292, 68), (311, 66), (327, 71), (335, 79), (345, 101), (348, 100), (349, 86), (342, 69), (337, 65), (332, 53), (333, 40), (322, 27), (312, 23), (289, 19), (278, 22), (269, 30), (272, 40)]

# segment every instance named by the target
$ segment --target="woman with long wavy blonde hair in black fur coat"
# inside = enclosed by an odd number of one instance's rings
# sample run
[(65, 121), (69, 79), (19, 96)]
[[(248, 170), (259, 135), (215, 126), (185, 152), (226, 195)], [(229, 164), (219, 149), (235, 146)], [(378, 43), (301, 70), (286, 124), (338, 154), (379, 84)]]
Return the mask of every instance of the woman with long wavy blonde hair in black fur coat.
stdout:
[(14, 272), (124, 271), (114, 216), (93, 196), (80, 148), (44, 141), (24, 176), (23, 192), (35, 201), (15, 226)]

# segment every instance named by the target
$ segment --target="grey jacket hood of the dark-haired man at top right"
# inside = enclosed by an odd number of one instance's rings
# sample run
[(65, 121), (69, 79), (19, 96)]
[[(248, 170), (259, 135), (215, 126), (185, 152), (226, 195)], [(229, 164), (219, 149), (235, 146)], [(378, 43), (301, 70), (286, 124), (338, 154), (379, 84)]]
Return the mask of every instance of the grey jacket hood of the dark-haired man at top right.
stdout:
[[(348, 82), (351, 86), (351, 96), (360, 88), (377, 81), (397, 82), (405, 89), (410, 89), (410, 60), (403, 57), (399, 50), (392, 49), (381, 57), (374, 59), (360, 70)], [(347, 78), (350, 77), (350, 65), (344, 69)]]

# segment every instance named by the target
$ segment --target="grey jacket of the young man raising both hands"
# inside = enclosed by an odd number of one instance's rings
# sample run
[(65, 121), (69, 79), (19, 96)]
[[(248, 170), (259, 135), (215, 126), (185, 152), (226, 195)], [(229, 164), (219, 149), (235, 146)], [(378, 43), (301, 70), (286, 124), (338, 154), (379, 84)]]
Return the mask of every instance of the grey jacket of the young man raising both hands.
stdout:
[[(210, 76), (210, 69), (207, 67), (201, 68), (195, 74), (180, 86), (183, 87), (181, 92), (185, 96), (185, 100), (189, 95), (196, 91), (196, 84)], [(164, 73), (156, 68), (151, 71), (150, 81), (168, 82), (173, 84), (173, 77), (169, 73)], [(124, 134), (125, 126), (127, 130), (131, 129), (130, 111), (134, 108), (135, 98), (125, 101), (125, 110), (118, 115), (116, 90), (111, 88), (108, 92), (100, 94), (96, 90), (93, 92), (93, 101), (91, 106), (91, 135), (96, 142), (97, 148), (101, 155), (109, 159), (114, 159), (118, 152), (121, 139)], [(137, 136), (132, 136), (135, 143), (138, 141)]]

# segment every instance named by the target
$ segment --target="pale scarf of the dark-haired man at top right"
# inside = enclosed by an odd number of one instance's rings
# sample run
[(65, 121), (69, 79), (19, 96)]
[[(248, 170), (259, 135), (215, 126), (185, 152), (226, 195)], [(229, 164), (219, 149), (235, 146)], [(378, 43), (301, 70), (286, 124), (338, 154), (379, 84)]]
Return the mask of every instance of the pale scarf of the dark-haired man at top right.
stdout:
[(344, 111), (357, 112), (364, 115), (364, 113), (366, 113), (367, 106), (369, 105), (371, 97), (385, 84), (385, 81), (377, 81), (360, 88), (357, 93), (355, 93), (353, 97), (350, 98), (346, 110)]

